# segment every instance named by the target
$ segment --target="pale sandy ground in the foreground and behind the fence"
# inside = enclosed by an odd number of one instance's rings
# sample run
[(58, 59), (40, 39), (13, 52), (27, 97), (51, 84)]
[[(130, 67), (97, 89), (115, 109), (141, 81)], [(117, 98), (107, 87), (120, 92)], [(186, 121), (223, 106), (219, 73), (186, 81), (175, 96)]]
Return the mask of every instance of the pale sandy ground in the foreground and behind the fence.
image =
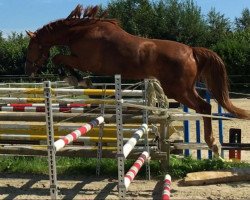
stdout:
[[(233, 101), (235, 105), (248, 109), (249, 99)], [(213, 104), (213, 110), (216, 106)], [(193, 123), (193, 122), (192, 122)], [(191, 123), (190, 140), (195, 141), (194, 123)], [(242, 142), (250, 143), (250, 122), (233, 120), (224, 122), (224, 141), (228, 142), (229, 128), (242, 129)], [(214, 135), (218, 138), (218, 122), (213, 121)], [(201, 129), (201, 132), (203, 130)], [(182, 133), (176, 134), (182, 136)], [(196, 151), (192, 151), (196, 155)], [(207, 151), (203, 151), (203, 158)], [(228, 153), (225, 152), (225, 158)], [(250, 162), (250, 152), (242, 152), (242, 160)], [(117, 180), (107, 177), (63, 177), (59, 176), (61, 199), (118, 199)], [(159, 180), (135, 180), (127, 192), (128, 199), (161, 199), (163, 182)], [(50, 199), (48, 176), (0, 174), (0, 199)], [(207, 186), (183, 186), (181, 180), (171, 185), (171, 199), (250, 199), (250, 182), (235, 182)]]

